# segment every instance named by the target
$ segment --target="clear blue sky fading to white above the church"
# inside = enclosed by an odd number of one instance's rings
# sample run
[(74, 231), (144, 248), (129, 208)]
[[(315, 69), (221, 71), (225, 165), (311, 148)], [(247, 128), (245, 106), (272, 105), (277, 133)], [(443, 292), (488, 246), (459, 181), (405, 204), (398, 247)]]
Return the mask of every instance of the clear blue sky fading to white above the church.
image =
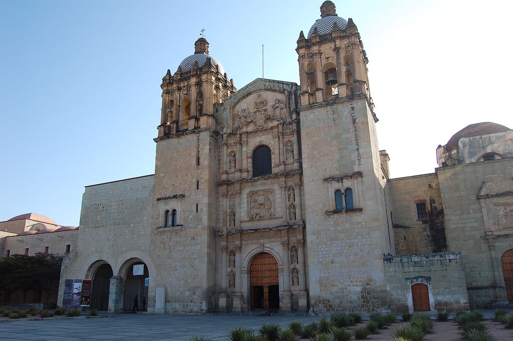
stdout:
[[(465, 126), (513, 128), (508, 1), (334, 1), (358, 26), (392, 177), (430, 173)], [(0, 0), (0, 221), (77, 226), (84, 186), (152, 174), (162, 77), (210, 55), (242, 88), (299, 83), (322, 1)]]

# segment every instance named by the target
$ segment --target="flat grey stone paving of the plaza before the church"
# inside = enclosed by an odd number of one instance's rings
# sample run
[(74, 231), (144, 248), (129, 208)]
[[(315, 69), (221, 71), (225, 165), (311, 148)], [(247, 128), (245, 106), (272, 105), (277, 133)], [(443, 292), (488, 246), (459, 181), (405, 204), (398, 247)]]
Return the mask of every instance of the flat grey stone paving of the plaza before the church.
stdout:
[[(493, 310), (481, 310), (486, 318)], [(432, 315), (432, 314), (431, 314)], [(364, 316), (365, 317), (365, 316)], [(322, 316), (258, 315), (156, 315), (113, 314), (106, 317), (85, 316), (14, 321), (0, 323), (2, 341), (43, 340), (116, 340), (116, 341), (187, 341), (193, 335), (224, 340), (228, 329), (239, 326), (258, 329), (265, 323), (287, 326), (292, 321), (303, 324)]]

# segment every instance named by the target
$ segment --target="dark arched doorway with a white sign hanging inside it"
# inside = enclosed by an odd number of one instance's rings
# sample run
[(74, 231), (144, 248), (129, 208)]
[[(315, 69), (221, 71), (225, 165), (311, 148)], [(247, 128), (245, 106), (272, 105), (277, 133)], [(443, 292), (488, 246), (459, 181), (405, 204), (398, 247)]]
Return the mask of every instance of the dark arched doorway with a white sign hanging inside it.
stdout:
[[(125, 274), (125, 295), (123, 298), (123, 310), (132, 310), (134, 298), (137, 296), (137, 303), (140, 311), (148, 308), (148, 267), (143, 262), (132, 263)], [(144, 302), (143, 302), (144, 300)], [(143, 303), (146, 303), (143, 305)]]

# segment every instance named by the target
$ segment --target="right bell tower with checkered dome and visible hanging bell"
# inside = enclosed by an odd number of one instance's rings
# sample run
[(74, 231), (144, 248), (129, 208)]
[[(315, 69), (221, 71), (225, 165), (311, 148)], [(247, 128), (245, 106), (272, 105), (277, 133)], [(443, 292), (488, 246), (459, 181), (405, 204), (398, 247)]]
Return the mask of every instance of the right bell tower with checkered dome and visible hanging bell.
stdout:
[(386, 307), (382, 255), (393, 252), (393, 234), (360, 34), (325, 1), (296, 51), (310, 308)]

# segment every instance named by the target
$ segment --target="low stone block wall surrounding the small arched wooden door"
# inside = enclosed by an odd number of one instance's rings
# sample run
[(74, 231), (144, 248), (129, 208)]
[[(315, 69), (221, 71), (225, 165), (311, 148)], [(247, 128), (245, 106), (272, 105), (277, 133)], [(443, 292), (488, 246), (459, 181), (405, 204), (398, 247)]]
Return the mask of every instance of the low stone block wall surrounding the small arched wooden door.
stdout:
[(411, 286), (427, 285), (431, 311), (468, 309), (465, 269), (460, 252), (384, 256), (390, 309), (413, 312)]

